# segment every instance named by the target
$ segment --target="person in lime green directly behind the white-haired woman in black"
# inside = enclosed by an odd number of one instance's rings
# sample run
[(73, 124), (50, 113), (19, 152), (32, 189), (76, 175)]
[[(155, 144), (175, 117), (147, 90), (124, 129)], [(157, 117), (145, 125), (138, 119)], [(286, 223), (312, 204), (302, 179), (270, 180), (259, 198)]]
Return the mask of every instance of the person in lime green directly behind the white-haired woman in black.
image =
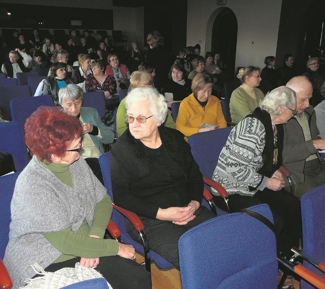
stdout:
[[(131, 90), (139, 87), (151, 87), (153, 88), (153, 77), (152, 75), (145, 73), (144, 71), (134, 71), (130, 78)], [(118, 105), (116, 113), (116, 132), (117, 136), (120, 137), (124, 131), (127, 130), (128, 123), (125, 120), (126, 107), (125, 98), (123, 98)], [(168, 111), (167, 117), (163, 126), (176, 129), (175, 122), (173, 121), (172, 114)]]

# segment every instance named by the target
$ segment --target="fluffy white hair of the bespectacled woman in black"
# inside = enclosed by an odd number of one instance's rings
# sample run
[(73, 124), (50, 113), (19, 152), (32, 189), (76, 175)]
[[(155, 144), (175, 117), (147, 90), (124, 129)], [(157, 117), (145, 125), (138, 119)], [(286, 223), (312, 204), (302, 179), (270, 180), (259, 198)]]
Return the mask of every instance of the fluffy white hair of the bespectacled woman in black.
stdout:
[(131, 103), (149, 101), (150, 109), (157, 123), (162, 124), (167, 117), (168, 107), (165, 97), (155, 89), (149, 87), (135, 88), (125, 97), (126, 113)]

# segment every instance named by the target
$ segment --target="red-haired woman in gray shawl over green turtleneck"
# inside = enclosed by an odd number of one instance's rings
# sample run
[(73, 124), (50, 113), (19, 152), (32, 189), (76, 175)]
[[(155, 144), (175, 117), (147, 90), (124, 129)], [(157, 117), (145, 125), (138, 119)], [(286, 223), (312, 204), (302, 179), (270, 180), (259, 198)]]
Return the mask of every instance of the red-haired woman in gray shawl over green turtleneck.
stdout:
[(82, 124), (55, 107), (40, 107), (25, 123), (34, 155), (18, 176), (4, 263), (14, 283), (45, 271), (92, 267), (114, 288), (151, 288), (149, 273), (133, 262), (130, 245), (103, 239), (111, 199), (84, 159)]

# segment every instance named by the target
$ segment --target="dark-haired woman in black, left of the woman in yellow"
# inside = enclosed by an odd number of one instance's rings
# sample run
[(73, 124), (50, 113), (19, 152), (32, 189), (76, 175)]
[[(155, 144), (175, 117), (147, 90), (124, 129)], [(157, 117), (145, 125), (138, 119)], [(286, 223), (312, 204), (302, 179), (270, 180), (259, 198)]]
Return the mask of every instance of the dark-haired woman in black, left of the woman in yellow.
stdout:
[(174, 63), (169, 71), (169, 81), (163, 89), (169, 107), (175, 101), (181, 101), (192, 93), (191, 81), (186, 77), (186, 70), (180, 63)]

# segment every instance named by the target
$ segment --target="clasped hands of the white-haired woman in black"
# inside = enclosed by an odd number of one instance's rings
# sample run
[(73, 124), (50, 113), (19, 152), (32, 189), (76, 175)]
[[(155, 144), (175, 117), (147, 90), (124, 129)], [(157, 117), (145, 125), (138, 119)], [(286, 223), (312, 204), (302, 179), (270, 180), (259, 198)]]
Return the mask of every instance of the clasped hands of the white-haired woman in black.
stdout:
[(191, 201), (186, 207), (169, 207), (167, 209), (158, 209), (156, 218), (158, 220), (171, 221), (175, 225), (186, 225), (196, 218), (194, 212), (200, 207), (197, 201)]

